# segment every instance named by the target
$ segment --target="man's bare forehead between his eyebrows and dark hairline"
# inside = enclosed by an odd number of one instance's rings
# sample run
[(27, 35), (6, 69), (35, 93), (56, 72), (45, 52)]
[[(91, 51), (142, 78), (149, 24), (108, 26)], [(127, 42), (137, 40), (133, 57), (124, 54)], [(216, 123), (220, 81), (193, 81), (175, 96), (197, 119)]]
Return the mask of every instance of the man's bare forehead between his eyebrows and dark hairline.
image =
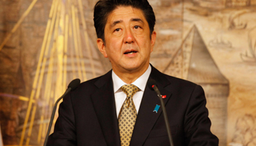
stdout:
[(108, 15), (107, 23), (113, 23), (116, 20), (129, 21), (132, 18), (140, 18), (144, 22), (146, 21), (146, 18), (141, 9), (130, 6), (119, 6), (110, 12), (110, 15)]

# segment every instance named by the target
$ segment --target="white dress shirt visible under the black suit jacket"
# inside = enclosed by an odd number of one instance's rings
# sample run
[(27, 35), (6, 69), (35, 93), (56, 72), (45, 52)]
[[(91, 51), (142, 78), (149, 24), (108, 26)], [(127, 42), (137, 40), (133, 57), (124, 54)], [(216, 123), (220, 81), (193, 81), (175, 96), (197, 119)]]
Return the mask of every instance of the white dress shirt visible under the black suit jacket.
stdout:
[[(133, 95), (132, 100), (135, 104), (137, 114), (140, 109), (140, 103), (142, 100), (143, 93), (146, 88), (146, 82), (148, 81), (148, 77), (151, 73), (151, 66), (148, 65), (148, 69), (144, 74), (142, 74), (135, 82), (132, 82), (133, 85), (136, 85), (139, 88), (139, 91)], [(118, 117), (119, 112), (121, 110), (122, 105), (124, 104), (125, 99), (127, 98), (127, 94), (121, 91), (122, 85), (127, 85), (123, 80), (121, 80), (115, 72), (112, 70), (112, 79), (113, 79), (113, 88), (115, 94), (115, 101), (116, 101), (116, 115)]]

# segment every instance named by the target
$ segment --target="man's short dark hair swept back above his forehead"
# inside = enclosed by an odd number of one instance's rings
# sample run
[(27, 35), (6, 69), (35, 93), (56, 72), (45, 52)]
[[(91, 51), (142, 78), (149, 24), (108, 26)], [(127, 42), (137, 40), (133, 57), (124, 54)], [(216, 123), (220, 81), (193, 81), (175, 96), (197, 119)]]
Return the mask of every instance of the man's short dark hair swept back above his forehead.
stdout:
[(108, 15), (118, 6), (131, 6), (143, 11), (144, 17), (148, 22), (150, 37), (154, 31), (156, 18), (151, 5), (147, 0), (99, 0), (94, 6), (94, 27), (97, 37), (105, 42), (104, 29), (108, 20)]

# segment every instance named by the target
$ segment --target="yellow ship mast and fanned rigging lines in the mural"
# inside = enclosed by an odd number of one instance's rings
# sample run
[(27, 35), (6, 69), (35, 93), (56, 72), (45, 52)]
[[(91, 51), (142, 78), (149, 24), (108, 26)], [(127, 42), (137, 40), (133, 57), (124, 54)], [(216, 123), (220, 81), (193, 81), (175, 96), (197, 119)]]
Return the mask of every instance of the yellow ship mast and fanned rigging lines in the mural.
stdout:
[(33, 73), (20, 145), (42, 144), (53, 104), (71, 80), (86, 81), (104, 72), (92, 48), (82, 0), (53, 0), (37, 69)]

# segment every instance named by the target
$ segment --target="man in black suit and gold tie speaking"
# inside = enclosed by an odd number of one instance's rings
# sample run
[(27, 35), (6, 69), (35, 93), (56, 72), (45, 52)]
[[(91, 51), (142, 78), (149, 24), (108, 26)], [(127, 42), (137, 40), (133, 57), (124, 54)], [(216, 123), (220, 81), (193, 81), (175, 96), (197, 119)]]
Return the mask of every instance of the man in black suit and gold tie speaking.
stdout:
[[(154, 112), (160, 101), (146, 85), (148, 79), (156, 80), (165, 96), (174, 145), (218, 145), (210, 131), (203, 88), (162, 74), (149, 64), (157, 37), (154, 24), (146, 0), (97, 2), (97, 45), (112, 70), (81, 83), (64, 97), (48, 145), (170, 145), (162, 108)], [(127, 85), (137, 92), (129, 96)]]

